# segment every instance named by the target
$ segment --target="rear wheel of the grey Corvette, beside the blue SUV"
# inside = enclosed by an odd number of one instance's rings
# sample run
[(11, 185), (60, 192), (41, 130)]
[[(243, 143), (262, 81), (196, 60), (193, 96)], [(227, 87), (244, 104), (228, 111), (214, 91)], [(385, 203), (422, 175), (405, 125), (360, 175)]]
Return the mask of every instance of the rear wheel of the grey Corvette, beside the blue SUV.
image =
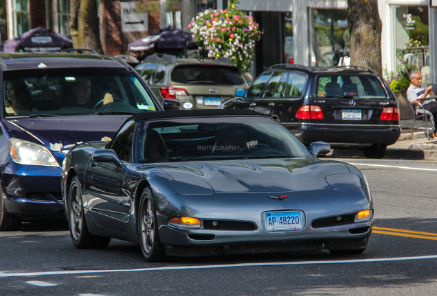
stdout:
[(111, 242), (111, 238), (90, 234), (85, 221), (82, 191), (77, 176), (71, 180), (68, 193), (68, 226), (73, 245), (78, 249), (104, 249)]

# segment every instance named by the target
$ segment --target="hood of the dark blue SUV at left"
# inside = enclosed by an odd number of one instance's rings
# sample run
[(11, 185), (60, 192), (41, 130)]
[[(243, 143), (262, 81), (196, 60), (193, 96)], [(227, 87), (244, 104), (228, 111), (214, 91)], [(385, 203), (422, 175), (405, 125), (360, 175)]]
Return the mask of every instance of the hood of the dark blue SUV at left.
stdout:
[(78, 142), (113, 138), (130, 115), (80, 115), (20, 119), (3, 119), (11, 136), (30, 140), (52, 151)]

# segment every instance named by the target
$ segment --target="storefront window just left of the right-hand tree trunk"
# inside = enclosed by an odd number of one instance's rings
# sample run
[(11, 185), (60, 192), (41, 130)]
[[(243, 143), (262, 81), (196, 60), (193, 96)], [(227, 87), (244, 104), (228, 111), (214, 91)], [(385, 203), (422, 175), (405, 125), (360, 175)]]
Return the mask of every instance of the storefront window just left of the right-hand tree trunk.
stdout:
[(337, 66), (349, 56), (347, 10), (310, 9), (310, 64)]

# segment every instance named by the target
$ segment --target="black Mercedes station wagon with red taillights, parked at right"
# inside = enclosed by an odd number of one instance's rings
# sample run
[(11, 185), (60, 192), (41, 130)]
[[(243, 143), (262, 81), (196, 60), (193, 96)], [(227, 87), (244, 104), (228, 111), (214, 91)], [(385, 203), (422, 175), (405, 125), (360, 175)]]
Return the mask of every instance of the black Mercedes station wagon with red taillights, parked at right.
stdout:
[(272, 116), (305, 145), (363, 149), (382, 158), (401, 135), (396, 97), (381, 75), (357, 66), (316, 68), (277, 64), (220, 108)]

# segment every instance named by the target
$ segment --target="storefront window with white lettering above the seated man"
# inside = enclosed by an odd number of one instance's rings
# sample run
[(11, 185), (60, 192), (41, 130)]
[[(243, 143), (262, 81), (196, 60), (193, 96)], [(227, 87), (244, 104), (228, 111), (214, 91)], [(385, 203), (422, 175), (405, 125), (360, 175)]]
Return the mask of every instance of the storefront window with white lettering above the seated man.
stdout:
[[(429, 73), (428, 6), (395, 5), (394, 13), (396, 66), (412, 64)], [(423, 77), (427, 81), (427, 73)]]

